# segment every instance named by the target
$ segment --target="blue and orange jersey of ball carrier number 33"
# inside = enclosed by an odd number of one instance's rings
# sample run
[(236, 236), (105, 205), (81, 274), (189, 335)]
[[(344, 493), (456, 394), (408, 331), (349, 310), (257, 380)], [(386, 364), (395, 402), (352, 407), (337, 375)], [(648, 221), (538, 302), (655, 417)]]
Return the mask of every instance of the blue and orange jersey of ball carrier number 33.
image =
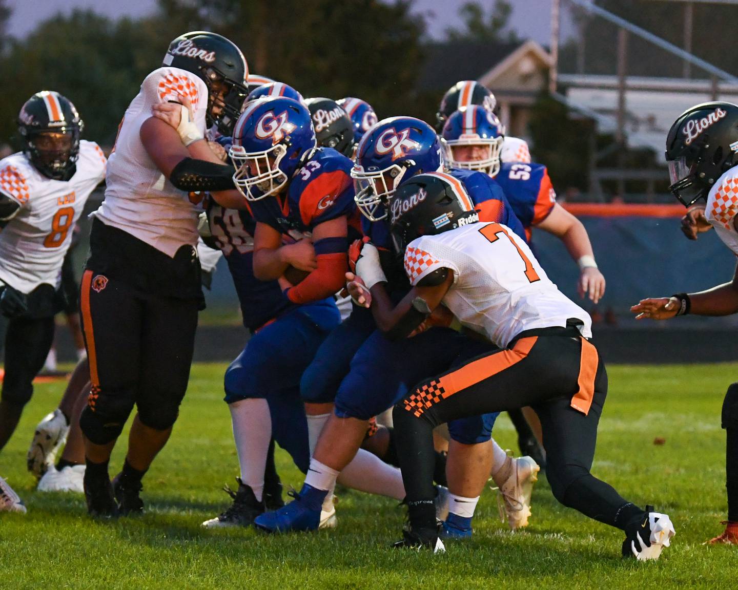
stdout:
[(352, 166), (331, 147), (317, 147), (289, 181), (284, 200), (270, 196), (251, 204), (255, 220), (293, 237), (342, 215), (356, 223)]

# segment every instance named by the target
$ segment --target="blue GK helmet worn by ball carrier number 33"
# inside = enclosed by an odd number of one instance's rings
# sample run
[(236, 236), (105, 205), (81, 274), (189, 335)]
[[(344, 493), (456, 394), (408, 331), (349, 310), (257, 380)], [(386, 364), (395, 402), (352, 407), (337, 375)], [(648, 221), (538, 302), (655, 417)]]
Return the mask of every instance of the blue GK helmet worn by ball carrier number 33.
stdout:
[(228, 154), (233, 181), (247, 201), (285, 187), (306, 151), (316, 147), (310, 111), (297, 100), (265, 97), (246, 105), (233, 130)]

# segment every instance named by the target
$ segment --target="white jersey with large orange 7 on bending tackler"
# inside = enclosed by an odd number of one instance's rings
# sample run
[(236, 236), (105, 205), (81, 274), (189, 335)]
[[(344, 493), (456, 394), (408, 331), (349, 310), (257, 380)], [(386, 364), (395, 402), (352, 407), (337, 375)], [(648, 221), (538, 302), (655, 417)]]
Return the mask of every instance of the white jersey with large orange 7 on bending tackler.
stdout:
[(413, 285), (450, 268), (454, 282), (444, 305), (500, 348), (523, 330), (563, 327), (569, 318), (581, 319), (582, 336), (592, 336), (589, 314), (556, 288), (528, 245), (502, 223), (470, 223), (418, 237), (407, 246), (404, 265)]

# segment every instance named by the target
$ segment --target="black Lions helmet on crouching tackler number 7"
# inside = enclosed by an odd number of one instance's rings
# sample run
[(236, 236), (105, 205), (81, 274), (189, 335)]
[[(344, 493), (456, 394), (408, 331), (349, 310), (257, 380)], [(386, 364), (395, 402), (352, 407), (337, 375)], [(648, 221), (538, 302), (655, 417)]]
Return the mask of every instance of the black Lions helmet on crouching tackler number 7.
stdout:
[(472, 199), (444, 172), (418, 174), (400, 184), (390, 206), (390, 235), (397, 257), (421, 235), (437, 235), (479, 221)]

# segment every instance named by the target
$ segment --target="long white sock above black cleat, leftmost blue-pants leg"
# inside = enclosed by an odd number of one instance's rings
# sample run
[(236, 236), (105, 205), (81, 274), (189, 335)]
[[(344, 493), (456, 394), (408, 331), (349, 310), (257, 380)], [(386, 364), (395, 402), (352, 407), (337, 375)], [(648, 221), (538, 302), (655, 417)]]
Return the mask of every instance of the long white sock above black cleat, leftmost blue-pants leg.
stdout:
[(263, 398), (249, 398), (230, 403), (233, 440), (241, 466), (241, 481), (251, 487), (261, 502), (264, 491), (264, 468), (269, 441), (272, 440), (272, 416)]

